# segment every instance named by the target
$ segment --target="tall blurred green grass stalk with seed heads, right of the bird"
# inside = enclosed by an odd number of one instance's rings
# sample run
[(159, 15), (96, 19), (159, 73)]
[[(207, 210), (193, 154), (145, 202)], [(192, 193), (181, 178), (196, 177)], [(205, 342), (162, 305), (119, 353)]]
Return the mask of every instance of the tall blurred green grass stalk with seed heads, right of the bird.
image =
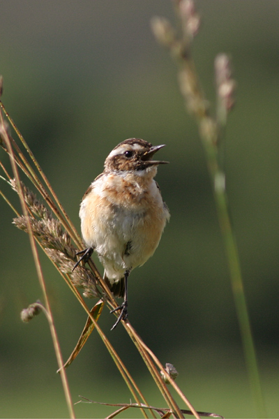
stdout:
[(227, 54), (218, 54), (215, 59), (216, 73), (216, 115), (209, 111), (209, 101), (195, 69), (191, 47), (199, 32), (200, 17), (194, 0), (174, 0), (179, 27), (174, 29), (165, 17), (154, 17), (151, 22), (153, 34), (159, 43), (167, 47), (178, 68), (178, 81), (186, 110), (197, 121), (199, 135), (204, 146), (209, 177), (216, 202), (216, 210), (223, 235), (227, 262), (229, 266), (232, 293), (239, 320), (239, 329), (246, 359), (252, 397), (259, 417), (265, 418), (266, 411), (262, 387), (257, 367), (257, 356), (252, 338), (252, 330), (243, 278), (239, 262), (239, 252), (232, 228), (229, 203), (226, 191), (225, 170), (223, 168), (222, 143), (229, 112), (234, 106), (236, 82), (232, 78), (232, 68)]

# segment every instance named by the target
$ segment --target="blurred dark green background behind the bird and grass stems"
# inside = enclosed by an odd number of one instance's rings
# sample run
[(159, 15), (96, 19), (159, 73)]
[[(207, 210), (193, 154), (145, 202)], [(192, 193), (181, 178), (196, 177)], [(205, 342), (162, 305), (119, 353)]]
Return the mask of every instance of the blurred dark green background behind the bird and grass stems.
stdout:
[[(270, 417), (279, 416), (279, 2), (199, 0), (194, 55), (214, 103), (213, 59), (231, 55), (237, 102), (226, 130), (225, 170), (259, 370)], [(169, 0), (6, 0), (0, 6), (3, 103), (78, 230), (82, 195), (119, 142), (166, 144), (157, 180), (172, 218), (155, 255), (130, 279), (129, 318), (158, 358), (179, 370), (195, 409), (227, 418), (257, 414), (251, 399), (202, 146), (186, 115), (176, 68), (154, 41), (153, 15), (174, 22)], [(214, 112), (214, 106), (212, 106)], [(1, 160), (8, 162), (0, 149)], [(7, 163), (8, 164), (8, 163)], [(17, 205), (15, 193), (1, 189)], [(68, 416), (47, 322), (20, 310), (42, 298), (27, 235), (0, 218), (0, 416)], [(66, 359), (86, 315), (42, 255)], [(89, 306), (92, 301), (89, 301)], [(133, 344), (105, 309), (100, 324), (149, 403), (165, 406)], [(129, 402), (105, 346), (93, 333), (68, 369), (73, 399)], [(181, 406), (182, 407), (182, 406)], [(78, 404), (80, 418), (114, 408)], [(138, 417), (129, 411), (122, 417)]]

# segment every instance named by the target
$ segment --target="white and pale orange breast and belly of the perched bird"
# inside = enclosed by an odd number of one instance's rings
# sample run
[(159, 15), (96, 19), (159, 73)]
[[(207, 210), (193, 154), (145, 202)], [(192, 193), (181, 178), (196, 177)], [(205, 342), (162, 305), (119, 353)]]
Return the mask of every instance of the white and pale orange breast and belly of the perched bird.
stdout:
[(169, 212), (156, 183), (150, 187), (152, 193), (143, 193), (141, 199), (119, 201), (119, 195), (112, 200), (112, 194), (97, 184), (82, 201), (84, 242), (96, 251), (112, 282), (143, 265), (160, 242)]

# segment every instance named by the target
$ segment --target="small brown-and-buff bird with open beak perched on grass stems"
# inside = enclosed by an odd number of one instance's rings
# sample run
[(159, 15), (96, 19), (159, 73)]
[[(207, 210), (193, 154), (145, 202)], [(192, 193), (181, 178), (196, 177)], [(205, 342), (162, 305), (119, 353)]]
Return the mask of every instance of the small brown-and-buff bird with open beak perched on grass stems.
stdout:
[(81, 230), (86, 249), (75, 267), (93, 251), (104, 267), (104, 279), (123, 303), (113, 330), (128, 317), (128, 277), (158, 247), (169, 209), (153, 179), (160, 164), (153, 155), (165, 145), (153, 146), (141, 138), (120, 142), (105, 159), (103, 172), (87, 189), (80, 205)]

